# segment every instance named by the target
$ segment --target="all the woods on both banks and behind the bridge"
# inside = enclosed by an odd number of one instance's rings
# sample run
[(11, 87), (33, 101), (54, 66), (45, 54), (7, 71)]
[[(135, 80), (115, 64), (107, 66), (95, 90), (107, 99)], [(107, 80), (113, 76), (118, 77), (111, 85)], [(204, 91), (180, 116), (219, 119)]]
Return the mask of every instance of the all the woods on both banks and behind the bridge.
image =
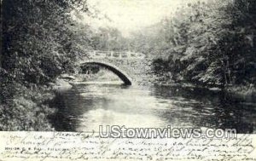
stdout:
[[(133, 50), (154, 56), (159, 83), (255, 89), (256, 1), (188, 3), (132, 38), (114, 28), (92, 32), (71, 11), (86, 1), (3, 0), (0, 130), (51, 130), (49, 83), (86, 49)], [(84, 32), (85, 31), (85, 32)]]

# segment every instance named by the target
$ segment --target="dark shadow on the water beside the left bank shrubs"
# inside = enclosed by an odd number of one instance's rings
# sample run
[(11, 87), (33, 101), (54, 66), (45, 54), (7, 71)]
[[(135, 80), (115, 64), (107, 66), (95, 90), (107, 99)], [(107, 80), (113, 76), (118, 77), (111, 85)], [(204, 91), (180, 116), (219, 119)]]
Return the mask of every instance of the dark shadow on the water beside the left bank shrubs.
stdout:
[[(103, 86), (113, 86), (113, 84), (104, 84)], [(130, 85), (116, 85), (120, 89), (129, 89)], [(87, 90), (83, 90), (84, 85), (73, 86), (73, 89), (70, 89), (65, 92), (55, 93), (55, 98), (49, 102), (49, 106), (55, 108), (57, 112), (54, 115), (49, 116), (51, 124), (53, 124), (56, 131), (77, 131), (79, 127), (79, 118), (83, 113), (86, 113), (91, 110), (94, 102), (107, 104), (105, 98), (96, 97), (92, 99), (84, 98), (81, 95)]]

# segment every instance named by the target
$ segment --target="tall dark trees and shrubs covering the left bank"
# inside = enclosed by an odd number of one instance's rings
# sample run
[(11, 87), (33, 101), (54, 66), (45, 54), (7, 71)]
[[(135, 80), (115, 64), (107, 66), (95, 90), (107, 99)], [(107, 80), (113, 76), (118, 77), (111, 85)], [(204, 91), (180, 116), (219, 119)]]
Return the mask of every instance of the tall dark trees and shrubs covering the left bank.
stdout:
[(73, 69), (72, 9), (83, 1), (2, 2), (1, 130), (51, 129), (47, 84)]

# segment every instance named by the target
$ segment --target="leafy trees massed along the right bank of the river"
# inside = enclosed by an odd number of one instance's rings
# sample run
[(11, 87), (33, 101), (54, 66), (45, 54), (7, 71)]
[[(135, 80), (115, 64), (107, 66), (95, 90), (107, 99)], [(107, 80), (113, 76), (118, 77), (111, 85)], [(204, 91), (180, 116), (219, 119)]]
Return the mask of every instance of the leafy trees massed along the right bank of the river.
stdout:
[(252, 86), (256, 81), (255, 12), (254, 0), (188, 3), (137, 34), (133, 44), (155, 55), (155, 71), (166, 80)]

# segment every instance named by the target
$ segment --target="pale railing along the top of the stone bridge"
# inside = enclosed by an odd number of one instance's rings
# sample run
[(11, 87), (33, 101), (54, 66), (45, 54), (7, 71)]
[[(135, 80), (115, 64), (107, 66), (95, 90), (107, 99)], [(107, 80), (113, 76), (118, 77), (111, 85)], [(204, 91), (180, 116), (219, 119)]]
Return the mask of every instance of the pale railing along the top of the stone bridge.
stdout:
[(117, 51), (100, 51), (100, 50), (92, 50), (87, 51), (87, 55), (91, 58), (117, 58), (117, 59), (143, 59), (145, 55), (142, 53), (135, 52), (117, 52)]

